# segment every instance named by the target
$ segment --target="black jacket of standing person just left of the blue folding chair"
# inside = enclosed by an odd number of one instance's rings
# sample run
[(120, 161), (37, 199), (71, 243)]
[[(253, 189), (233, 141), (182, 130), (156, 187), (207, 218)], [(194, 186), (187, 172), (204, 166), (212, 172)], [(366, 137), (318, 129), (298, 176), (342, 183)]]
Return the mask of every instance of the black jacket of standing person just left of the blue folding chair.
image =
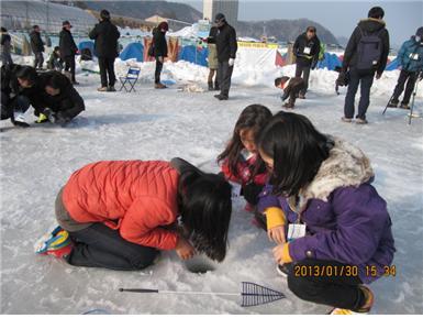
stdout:
[(96, 41), (96, 55), (101, 58), (118, 57), (118, 39), (120, 36), (121, 33), (110, 20), (103, 20), (96, 24), (94, 29), (89, 33), (89, 37)]

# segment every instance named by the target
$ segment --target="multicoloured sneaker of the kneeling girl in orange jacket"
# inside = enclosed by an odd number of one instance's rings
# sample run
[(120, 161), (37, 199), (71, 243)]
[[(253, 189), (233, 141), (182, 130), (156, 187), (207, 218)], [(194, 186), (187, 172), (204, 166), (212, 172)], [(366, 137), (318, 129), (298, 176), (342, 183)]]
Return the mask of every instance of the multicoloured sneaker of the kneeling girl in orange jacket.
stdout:
[(56, 227), (51, 233), (41, 238), (36, 244), (35, 253), (63, 257), (69, 255), (73, 248), (69, 232), (62, 229), (62, 227)]

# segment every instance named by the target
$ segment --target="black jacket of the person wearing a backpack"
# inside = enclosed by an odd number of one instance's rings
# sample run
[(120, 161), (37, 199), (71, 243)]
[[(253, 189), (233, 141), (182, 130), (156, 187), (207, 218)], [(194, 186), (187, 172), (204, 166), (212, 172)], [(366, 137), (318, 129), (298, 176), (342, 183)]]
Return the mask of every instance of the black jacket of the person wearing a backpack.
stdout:
[(354, 68), (357, 64), (357, 45), (361, 39), (360, 29), (365, 33), (379, 32), (379, 37), (382, 41), (383, 47), (376, 72), (378, 74), (382, 74), (385, 67), (387, 66), (389, 55), (389, 33), (388, 30), (385, 28), (383, 21), (371, 18), (361, 20), (354, 30), (352, 36), (349, 37), (348, 44), (344, 53), (343, 70), (346, 72), (348, 68)]

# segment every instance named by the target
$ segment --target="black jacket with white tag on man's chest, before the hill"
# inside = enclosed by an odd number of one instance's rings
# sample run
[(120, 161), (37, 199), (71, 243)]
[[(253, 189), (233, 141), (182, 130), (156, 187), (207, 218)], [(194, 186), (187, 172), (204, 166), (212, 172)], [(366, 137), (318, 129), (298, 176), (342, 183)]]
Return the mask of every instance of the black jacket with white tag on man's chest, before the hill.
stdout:
[(297, 56), (297, 64), (303, 66), (315, 65), (319, 61), (320, 40), (318, 35), (308, 39), (305, 33), (300, 34), (293, 44), (293, 54)]

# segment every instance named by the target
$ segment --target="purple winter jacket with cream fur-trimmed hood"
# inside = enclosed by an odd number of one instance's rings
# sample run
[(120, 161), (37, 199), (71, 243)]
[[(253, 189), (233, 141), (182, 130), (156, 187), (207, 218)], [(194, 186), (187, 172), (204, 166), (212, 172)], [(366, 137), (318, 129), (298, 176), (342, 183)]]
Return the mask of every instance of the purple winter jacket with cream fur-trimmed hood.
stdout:
[[(297, 207), (292, 198), (274, 196), (271, 185), (259, 195), (258, 210), (279, 207), (288, 223), (307, 224), (308, 234), (289, 243), (293, 262), (307, 257), (357, 265), (363, 283), (380, 277), (396, 251), (386, 201), (370, 185), (374, 173), (360, 150), (334, 139), (335, 146), (312, 183), (301, 191)], [(376, 266), (377, 275), (366, 275)], [(368, 267), (370, 268), (370, 267)]]

